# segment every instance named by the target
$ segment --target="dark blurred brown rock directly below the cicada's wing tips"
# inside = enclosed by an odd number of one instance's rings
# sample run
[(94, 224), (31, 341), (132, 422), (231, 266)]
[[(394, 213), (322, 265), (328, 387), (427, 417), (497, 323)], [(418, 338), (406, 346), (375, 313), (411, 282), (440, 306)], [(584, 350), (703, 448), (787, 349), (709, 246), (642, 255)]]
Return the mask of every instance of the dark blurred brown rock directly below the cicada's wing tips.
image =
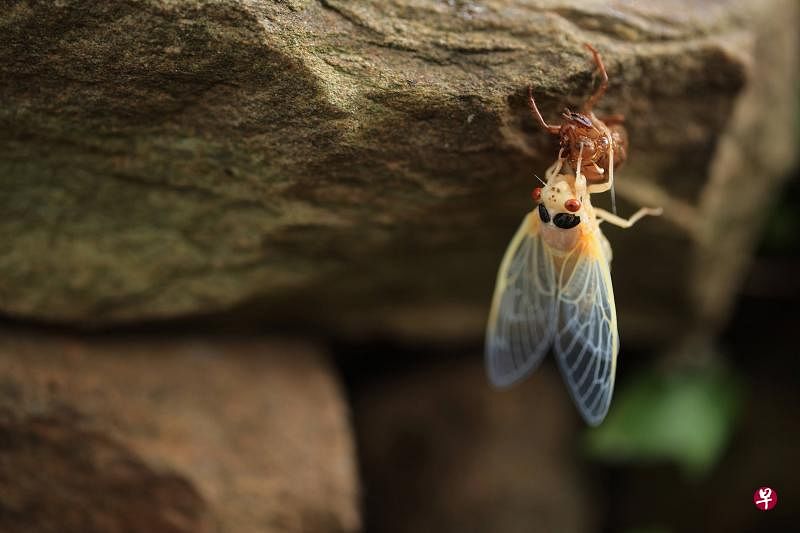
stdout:
[(367, 528), (378, 533), (596, 530), (574, 446), (580, 422), (551, 367), (498, 392), (480, 358), (355, 395)]

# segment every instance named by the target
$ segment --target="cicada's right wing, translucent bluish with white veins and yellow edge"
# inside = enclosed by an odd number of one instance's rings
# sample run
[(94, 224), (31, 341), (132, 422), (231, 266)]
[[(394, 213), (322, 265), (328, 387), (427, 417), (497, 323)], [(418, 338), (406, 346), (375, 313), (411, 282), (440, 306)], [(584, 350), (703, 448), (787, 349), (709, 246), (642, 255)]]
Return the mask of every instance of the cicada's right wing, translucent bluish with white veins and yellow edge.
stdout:
[(589, 425), (603, 421), (614, 391), (619, 336), (601, 235), (585, 234), (561, 265), (554, 351), (572, 399)]

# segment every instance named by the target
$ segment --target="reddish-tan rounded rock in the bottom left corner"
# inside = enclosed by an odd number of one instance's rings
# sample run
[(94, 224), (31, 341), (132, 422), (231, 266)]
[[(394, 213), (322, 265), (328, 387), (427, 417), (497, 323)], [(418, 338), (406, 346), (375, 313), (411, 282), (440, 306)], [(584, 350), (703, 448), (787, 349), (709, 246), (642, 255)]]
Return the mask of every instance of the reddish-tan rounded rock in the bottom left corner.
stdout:
[(359, 530), (346, 407), (313, 348), (4, 333), (0, 376), (4, 532)]

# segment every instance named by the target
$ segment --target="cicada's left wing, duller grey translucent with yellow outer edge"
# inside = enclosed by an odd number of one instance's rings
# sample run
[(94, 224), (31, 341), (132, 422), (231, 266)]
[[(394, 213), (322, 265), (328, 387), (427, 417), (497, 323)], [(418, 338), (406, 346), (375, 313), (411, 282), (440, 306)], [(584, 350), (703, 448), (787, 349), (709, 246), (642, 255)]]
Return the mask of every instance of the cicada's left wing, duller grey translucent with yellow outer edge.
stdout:
[(486, 328), (486, 369), (497, 387), (533, 372), (552, 345), (556, 278), (539, 219), (529, 213), (508, 245)]

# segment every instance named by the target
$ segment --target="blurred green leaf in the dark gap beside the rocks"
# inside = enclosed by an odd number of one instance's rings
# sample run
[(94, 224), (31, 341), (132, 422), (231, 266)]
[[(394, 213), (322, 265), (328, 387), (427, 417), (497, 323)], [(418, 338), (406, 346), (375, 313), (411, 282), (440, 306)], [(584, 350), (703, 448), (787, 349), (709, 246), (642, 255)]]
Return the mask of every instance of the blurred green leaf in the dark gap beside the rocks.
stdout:
[(696, 477), (713, 467), (731, 435), (741, 387), (716, 369), (644, 374), (619, 391), (587, 450), (614, 462), (674, 461)]

